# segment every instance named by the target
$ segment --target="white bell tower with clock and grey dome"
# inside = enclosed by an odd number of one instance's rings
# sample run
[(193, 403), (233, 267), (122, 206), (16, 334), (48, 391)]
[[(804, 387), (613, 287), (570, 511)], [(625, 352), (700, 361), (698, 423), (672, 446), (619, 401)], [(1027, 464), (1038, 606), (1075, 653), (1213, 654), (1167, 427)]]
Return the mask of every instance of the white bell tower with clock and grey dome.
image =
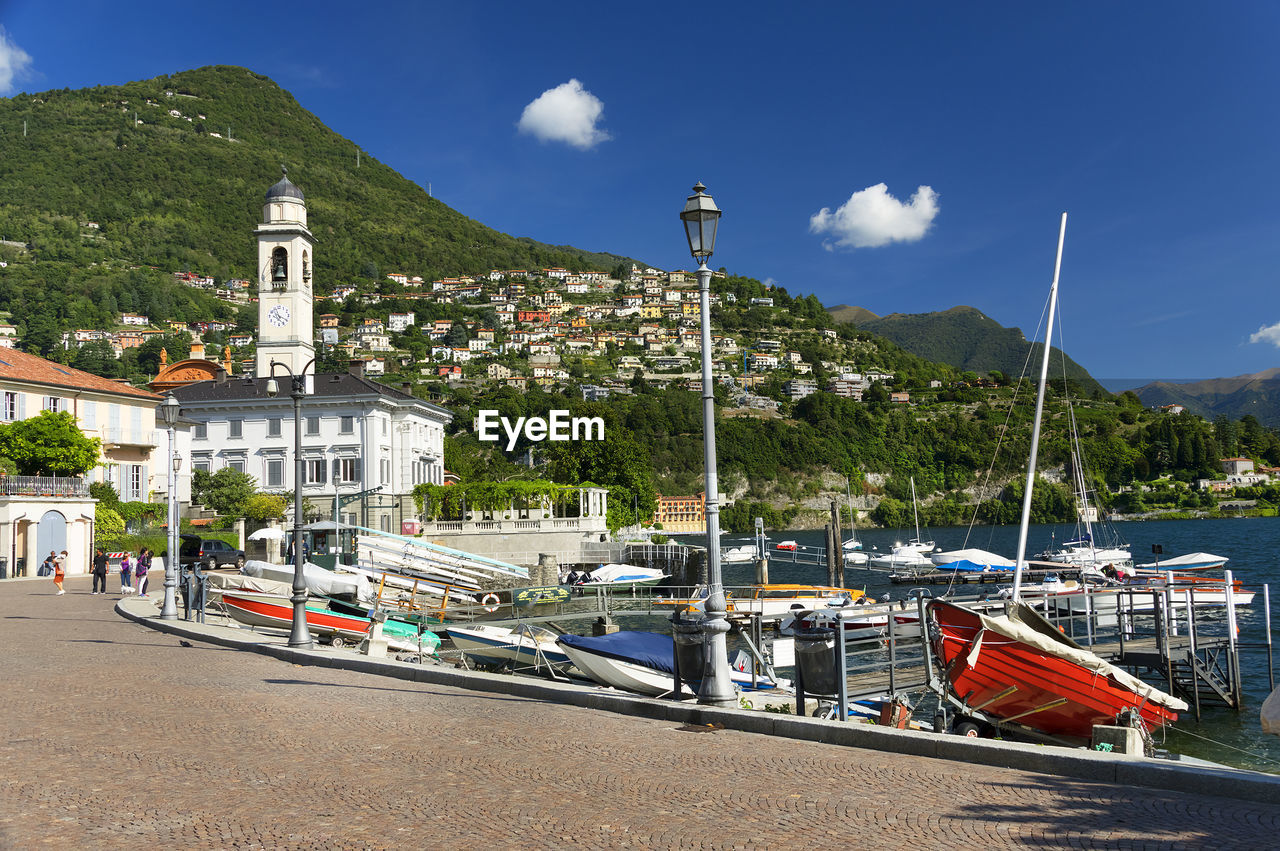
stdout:
[[(256, 374), (266, 378), (271, 361), (298, 375), (315, 357), (315, 328), (311, 310), (315, 296), (315, 238), (307, 230), (307, 205), (302, 189), (289, 182), (282, 166), (280, 182), (266, 191), (262, 224), (257, 225), (257, 362)], [(315, 372), (311, 369), (310, 372)], [(276, 370), (283, 378), (283, 371)]]

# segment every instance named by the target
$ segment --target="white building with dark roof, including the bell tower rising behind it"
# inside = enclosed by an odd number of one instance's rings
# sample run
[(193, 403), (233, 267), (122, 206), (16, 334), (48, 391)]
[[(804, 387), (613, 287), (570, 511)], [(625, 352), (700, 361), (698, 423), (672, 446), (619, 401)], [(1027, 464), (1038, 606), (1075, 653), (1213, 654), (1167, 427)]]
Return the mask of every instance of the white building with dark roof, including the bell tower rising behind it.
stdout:
[[(379, 489), (376, 498), (339, 509), (342, 520), (398, 532), (401, 517), (413, 513), (408, 500), (413, 486), (444, 481), (444, 426), (452, 413), (407, 389), (369, 380), (364, 362), (355, 362), (348, 372), (311, 372), (314, 258), (301, 189), (288, 179), (271, 187), (264, 218), (256, 232), (261, 261), (257, 376), (220, 375), (173, 390), (183, 417), (193, 424), (191, 466), (210, 472), (232, 467), (253, 476), (265, 490), (293, 490), (291, 375), (301, 375), (303, 499), (316, 517), (329, 518), (339, 497)], [(268, 393), (273, 369), (274, 397)]]

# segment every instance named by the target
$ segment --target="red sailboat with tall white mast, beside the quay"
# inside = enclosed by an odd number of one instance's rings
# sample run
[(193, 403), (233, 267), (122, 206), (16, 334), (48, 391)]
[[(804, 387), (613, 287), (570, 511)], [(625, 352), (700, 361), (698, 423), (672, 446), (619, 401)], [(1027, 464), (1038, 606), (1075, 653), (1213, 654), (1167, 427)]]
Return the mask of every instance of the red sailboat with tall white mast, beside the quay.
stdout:
[(961, 713), (1043, 736), (1088, 741), (1094, 724), (1123, 723), (1125, 717), (1140, 719), (1148, 729), (1164, 727), (1176, 720), (1178, 710), (1187, 709), (1187, 704), (1085, 650), (1019, 601), (1065, 235), (1064, 212), (1023, 491), (1012, 603), (1004, 614), (982, 614), (931, 600), (927, 618), (929, 648), (941, 668), (934, 685)]

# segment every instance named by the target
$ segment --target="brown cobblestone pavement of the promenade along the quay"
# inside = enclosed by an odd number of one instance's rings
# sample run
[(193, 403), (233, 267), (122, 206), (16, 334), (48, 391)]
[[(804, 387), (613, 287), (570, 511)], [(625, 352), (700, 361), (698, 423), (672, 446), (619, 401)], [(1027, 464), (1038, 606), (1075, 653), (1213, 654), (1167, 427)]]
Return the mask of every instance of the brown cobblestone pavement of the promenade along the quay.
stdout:
[(0, 582), (0, 847), (1262, 848), (1280, 806), (296, 667)]

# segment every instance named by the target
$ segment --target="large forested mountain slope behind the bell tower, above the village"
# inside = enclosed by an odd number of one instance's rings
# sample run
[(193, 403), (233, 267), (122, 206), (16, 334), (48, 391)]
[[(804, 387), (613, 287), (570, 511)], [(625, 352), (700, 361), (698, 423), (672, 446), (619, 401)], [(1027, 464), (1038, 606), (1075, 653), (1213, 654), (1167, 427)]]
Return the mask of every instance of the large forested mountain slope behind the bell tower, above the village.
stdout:
[(388, 271), (431, 280), (630, 262), (466, 218), (367, 154), (357, 160), (356, 143), (244, 68), (0, 99), (0, 238), (29, 243), (37, 261), (253, 279), (251, 234), (285, 164), (307, 195), (320, 292)]

